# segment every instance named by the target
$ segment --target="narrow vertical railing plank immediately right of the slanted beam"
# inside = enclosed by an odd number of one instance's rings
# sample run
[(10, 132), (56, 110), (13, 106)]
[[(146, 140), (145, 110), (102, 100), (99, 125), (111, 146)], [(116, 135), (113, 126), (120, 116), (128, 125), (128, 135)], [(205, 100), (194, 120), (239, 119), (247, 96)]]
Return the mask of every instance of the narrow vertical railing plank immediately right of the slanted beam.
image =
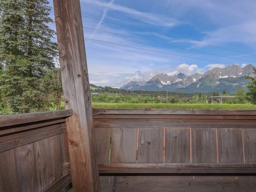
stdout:
[(110, 137), (111, 137), (111, 128), (95, 129), (98, 163), (109, 162)]

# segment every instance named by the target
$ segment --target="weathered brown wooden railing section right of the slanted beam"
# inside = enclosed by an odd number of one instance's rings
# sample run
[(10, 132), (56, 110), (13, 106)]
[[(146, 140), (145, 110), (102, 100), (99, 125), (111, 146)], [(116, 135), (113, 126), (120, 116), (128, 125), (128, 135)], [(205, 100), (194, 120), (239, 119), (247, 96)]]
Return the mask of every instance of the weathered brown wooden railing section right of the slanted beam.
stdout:
[(93, 109), (93, 116), (104, 191), (255, 190), (256, 111)]

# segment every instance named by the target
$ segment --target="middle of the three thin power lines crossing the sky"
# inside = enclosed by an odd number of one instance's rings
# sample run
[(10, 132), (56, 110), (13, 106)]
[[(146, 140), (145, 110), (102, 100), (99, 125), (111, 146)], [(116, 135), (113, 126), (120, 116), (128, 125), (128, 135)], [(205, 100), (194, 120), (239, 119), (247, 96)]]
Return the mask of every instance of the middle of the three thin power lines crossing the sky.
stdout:
[(119, 34), (119, 33), (113, 33), (113, 32), (109, 32), (109, 31), (104, 31), (102, 29), (89, 28), (89, 27), (86, 27), (86, 26), (83, 26), (83, 28), (93, 29), (93, 30), (96, 30), (96, 31), (102, 31), (104, 33), (111, 33), (113, 35), (124, 36), (124, 37), (127, 37), (127, 38), (133, 38), (135, 40), (140, 40), (140, 41), (144, 41), (144, 42), (150, 42), (150, 43), (153, 43), (153, 44), (159, 44), (159, 45), (165, 45), (165, 46), (168, 46), (168, 47), (174, 47), (174, 48), (177, 48), (177, 49), (184, 49), (184, 50), (187, 50), (187, 51), (199, 52), (199, 53), (202, 53), (202, 54), (209, 54), (209, 55), (212, 55), (212, 56), (218, 56), (218, 57), (227, 58), (227, 59), (230, 59), (230, 60), (239, 60), (239, 61), (246, 61), (246, 62), (249, 62), (249, 63), (256, 63), (254, 61), (240, 60), (240, 59), (236, 59), (236, 58), (230, 58), (230, 57), (227, 57), (227, 56), (221, 56), (219, 54), (212, 54), (212, 53), (209, 53), (209, 52), (196, 51), (196, 50), (188, 49), (188, 48), (184, 48), (184, 47), (177, 47), (177, 46), (173, 46), (173, 45), (162, 44), (162, 43), (159, 43), (159, 42), (153, 42), (153, 41), (150, 41), (150, 40), (145, 40), (143, 38), (136, 38), (136, 37), (133, 37), (133, 36), (122, 35), (122, 34)]

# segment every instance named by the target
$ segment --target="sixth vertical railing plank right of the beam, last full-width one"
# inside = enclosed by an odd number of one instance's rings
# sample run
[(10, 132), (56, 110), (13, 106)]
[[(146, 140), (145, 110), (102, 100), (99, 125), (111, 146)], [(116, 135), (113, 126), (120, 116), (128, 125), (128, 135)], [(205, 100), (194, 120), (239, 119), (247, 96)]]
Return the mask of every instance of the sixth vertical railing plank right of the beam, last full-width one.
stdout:
[(242, 129), (218, 129), (220, 163), (244, 163)]

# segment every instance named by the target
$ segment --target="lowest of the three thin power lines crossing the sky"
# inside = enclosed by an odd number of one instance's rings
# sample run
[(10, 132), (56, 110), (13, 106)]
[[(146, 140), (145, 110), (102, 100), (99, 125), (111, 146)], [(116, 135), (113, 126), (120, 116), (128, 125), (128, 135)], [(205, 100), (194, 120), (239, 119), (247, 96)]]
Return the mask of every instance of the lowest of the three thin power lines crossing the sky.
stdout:
[(93, 38), (85, 38), (85, 39), (93, 40), (93, 41), (96, 41), (96, 42), (103, 42), (103, 43), (106, 43), (106, 44), (119, 45), (119, 46), (122, 46), (122, 47), (129, 47), (129, 48), (132, 48), (132, 49), (140, 49), (140, 50), (143, 50), (143, 51), (157, 52), (157, 53), (161, 53), (161, 54), (169, 54), (169, 55), (179, 56), (179, 57), (183, 57), (183, 58), (190, 58), (190, 59), (202, 60), (202, 61), (211, 61), (211, 62), (214, 62), (214, 63), (225, 63), (225, 64), (228, 64), (228, 65), (233, 65), (234, 64), (234, 63), (226, 63), (226, 62), (220, 62), (220, 61), (214, 61), (214, 60), (205, 60), (205, 59), (202, 59), (202, 58), (194, 58), (194, 57), (191, 57), (191, 56), (173, 54), (173, 53), (170, 53), (170, 52), (155, 51), (155, 50), (151, 50), (151, 49), (144, 49), (144, 48), (133, 47), (133, 46), (129, 46), (129, 45), (115, 44), (115, 43), (112, 43), (112, 42), (105, 42), (105, 41), (96, 40), (96, 39), (93, 39)]

